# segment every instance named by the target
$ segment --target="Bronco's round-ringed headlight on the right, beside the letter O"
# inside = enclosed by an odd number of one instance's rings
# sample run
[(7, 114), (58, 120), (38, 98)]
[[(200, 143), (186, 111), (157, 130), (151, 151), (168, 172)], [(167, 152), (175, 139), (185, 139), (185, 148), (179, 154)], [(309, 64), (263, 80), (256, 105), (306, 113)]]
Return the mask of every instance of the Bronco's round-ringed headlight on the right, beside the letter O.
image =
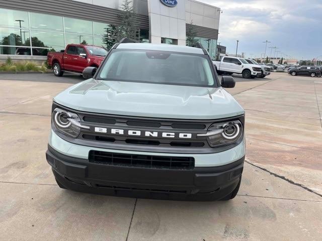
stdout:
[(243, 138), (243, 125), (237, 120), (215, 123), (206, 134), (198, 134), (198, 137), (207, 137), (209, 146), (213, 148), (227, 146)]

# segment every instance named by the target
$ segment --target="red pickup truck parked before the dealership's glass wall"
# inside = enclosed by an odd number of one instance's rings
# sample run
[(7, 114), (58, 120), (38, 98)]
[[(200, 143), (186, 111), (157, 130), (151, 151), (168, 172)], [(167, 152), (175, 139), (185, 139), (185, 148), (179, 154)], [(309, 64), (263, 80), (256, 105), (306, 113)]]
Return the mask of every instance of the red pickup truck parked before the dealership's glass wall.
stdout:
[(104, 48), (83, 45), (68, 44), (65, 51), (48, 52), (48, 65), (52, 66), (54, 75), (62, 76), (64, 71), (82, 74), (86, 67), (99, 67), (107, 51)]

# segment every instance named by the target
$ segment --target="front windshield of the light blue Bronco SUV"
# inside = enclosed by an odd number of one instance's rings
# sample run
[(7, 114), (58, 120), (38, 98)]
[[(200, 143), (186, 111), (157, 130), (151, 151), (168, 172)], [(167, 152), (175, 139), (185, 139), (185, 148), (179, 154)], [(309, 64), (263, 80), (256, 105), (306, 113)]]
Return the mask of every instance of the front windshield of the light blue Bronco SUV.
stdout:
[(215, 84), (211, 67), (202, 54), (113, 50), (98, 79), (208, 87)]

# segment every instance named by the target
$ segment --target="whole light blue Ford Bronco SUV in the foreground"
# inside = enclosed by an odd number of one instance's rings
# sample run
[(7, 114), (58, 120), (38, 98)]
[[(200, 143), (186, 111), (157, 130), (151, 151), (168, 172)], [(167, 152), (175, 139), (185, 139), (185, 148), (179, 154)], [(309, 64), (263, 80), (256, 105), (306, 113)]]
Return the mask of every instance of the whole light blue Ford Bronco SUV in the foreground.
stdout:
[(46, 158), (58, 185), (138, 198), (234, 198), (245, 111), (224, 89), (233, 78), (219, 82), (200, 45), (121, 42), (97, 71), (84, 70), (90, 79), (53, 99)]

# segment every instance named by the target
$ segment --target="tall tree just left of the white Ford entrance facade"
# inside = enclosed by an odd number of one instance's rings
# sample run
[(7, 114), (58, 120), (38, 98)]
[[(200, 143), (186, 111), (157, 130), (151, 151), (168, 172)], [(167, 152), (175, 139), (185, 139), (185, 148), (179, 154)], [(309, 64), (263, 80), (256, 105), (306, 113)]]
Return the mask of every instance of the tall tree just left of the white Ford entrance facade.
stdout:
[(134, 13), (133, 7), (131, 6), (132, 1), (125, 0), (121, 7), (121, 14), (118, 18), (121, 20), (119, 27), (119, 35), (117, 39), (130, 38), (136, 39), (137, 33), (137, 19)]

